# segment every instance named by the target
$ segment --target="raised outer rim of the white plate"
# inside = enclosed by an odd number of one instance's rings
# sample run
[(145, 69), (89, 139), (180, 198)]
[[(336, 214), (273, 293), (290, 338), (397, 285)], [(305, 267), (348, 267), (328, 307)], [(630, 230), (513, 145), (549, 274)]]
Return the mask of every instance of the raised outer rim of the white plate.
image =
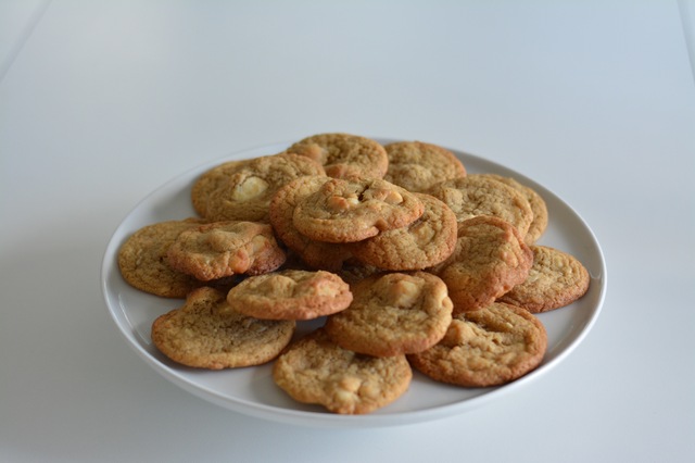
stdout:
[[(403, 141), (397, 138), (384, 138), (384, 137), (372, 137), (372, 139), (379, 141), (380, 143), (389, 143), (394, 141)], [(541, 184), (536, 183), (532, 178), (526, 176), (525, 174), (515, 171), (510, 167), (507, 167), (503, 164), (500, 164), (495, 161), (491, 161), (490, 159), (480, 157), (478, 154), (470, 153), (468, 151), (464, 151), (460, 149), (448, 148), (442, 146), (445, 149), (448, 149), (454, 154), (463, 155), (465, 158), (470, 158), (475, 160), (475, 162), (490, 164), (495, 167), (495, 170), (508, 172), (513, 174), (517, 179), (523, 180), (529, 186), (534, 189), (539, 189), (540, 192), (545, 197), (546, 195), (553, 197), (555, 201), (558, 201), (563, 204), (571, 214), (578, 220), (582, 226), (584, 227), (584, 232), (586, 233), (590, 241), (596, 252), (596, 256), (598, 258), (598, 266), (599, 274), (594, 277), (592, 276), (593, 284), (599, 283), (598, 295), (596, 299), (596, 303), (593, 306), (591, 316), (584, 323), (581, 331), (559, 353), (555, 355), (555, 358), (551, 359), (547, 362), (544, 362), (534, 371), (528, 373), (523, 377), (516, 379), (515, 381), (508, 383), (506, 385), (493, 387), (493, 388), (484, 388), (485, 391), (479, 396), (468, 398), (455, 403), (446, 403), (434, 405), (425, 410), (416, 410), (416, 411), (394, 411), (386, 414), (365, 414), (365, 415), (341, 415), (334, 413), (317, 413), (313, 411), (305, 410), (294, 410), (294, 409), (286, 409), (276, 405), (260, 403), (260, 402), (250, 402), (245, 399), (240, 399), (236, 397), (220, 397), (220, 395), (214, 390), (211, 390), (207, 387), (202, 387), (201, 385), (194, 385), (193, 381), (185, 378), (181, 374), (176, 372), (168, 365), (161, 363), (157, 359), (153, 358), (150, 352), (148, 352), (137, 340), (134, 340), (135, 336), (130, 336), (125, 331), (122, 326), (121, 321), (115, 312), (115, 308), (112, 306), (112, 300), (110, 297), (110, 287), (109, 287), (109, 275), (113, 273), (113, 265), (117, 266), (117, 262), (115, 255), (117, 253), (117, 249), (119, 248), (121, 242), (117, 241), (116, 238), (122, 233), (122, 228), (125, 223), (128, 221), (132, 214), (138, 211), (142, 204), (147, 203), (153, 197), (163, 190), (166, 190), (167, 187), (181, 180), (185, 177), (193, 177), (195, 175), (200, 175), (208, 167), (213, 167), (219, 163), (230, 160), (237, 159), (249, 159), (257, 155), (271, 154), (273, 152), (280, 152), (285, 148), (287, 148), (290, 142), (276, 142), (276, 143), (266, 143), (266, 145), (257, 145), (253, 148), (237, 150), (230, 152), (224, 157), (219, 157), (215, 160), (210, 160), (204, 163), (200, 163), (197, 166), (193, 166), (185, 172), (170, 177), (168, 180), (164, 182), (156, 188), (152, 189), (148, 195), (146, 195), (142, 199), (140, 199), (118, 222), (116, 227), (113, 229), (106, 248), (104, 250), (102, 256), (101, 272), (100, 272), (100, 280), (101, 280), (101, 289), (102, 297), (104, 299), (106, 309), (109, 311), (111, 320), (116, 325), (118, 333), (125, 338), (128, 346), (136, 351), (138, 356), (140, 356), (152, 370), (157, 372), (161, 376), (174, 383), (178, 387), (188, 391), (189, 393), (199, 397), (203, 400), (206, 400), (211, 403), (225, 408), (227, 410), (231, 410), (238, 413), (242, 413), (249, 416), (254, 416), (257, 418), (268, 420), (276, 423), (286, 423), (286, 424), (300, 424), (308, 427), (338, 427), (338, 428), (352, 428), (352, 427), (386, 427), (386, 426), (401, 426), (407, 424), (415, 423), (424, 423), (428, 421), (439, 420), (447, 416), (452, 416), (455, 414), (460, 414), (463, 412), (477, 409), (484, 403), (496, 399), (497, 397), (502, 397), (504, 395), (514, 392), (515, 390), (526, 387), (529, 383), (534, 381), (541, 376), (548, 373), (553, 370), (557, 364), (561, 363), (570, 355), (586, 338), (589, 333), (592, 330), (598, 316), (601, 315), (606, 298), (607, 291), (607, 267), (606, 267), (606, 259), (601, 247), (598, 239), (594, 230), (589, 226), (586, 221), (583, 218), (581, 214), (569, 203), (563, 200), (557, 193), (548, 190)], [(125, 315), (124, 315), (125, 316)]]

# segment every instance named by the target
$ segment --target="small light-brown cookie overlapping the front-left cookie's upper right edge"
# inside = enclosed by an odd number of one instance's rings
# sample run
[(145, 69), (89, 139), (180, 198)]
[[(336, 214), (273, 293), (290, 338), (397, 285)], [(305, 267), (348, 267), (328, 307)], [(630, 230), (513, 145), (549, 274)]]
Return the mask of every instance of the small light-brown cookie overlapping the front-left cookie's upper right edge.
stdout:
[(330, 272), (286, 270), (251, 276), (227, 295), (231, 310), (264, 320), (313, 320), (352, 302), (350, 286)]

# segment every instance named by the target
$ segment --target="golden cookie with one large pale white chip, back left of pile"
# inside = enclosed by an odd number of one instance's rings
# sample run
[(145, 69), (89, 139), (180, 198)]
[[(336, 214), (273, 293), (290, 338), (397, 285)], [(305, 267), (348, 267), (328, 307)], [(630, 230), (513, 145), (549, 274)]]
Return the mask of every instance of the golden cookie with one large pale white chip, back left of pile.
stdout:
[(316, 162), (296, 154), (255, 158), (203, 174), (193, 185), (191, 198), (195, 211), (208, 222), (268, 222), (275, 192), (302, 175), (325, 172)]

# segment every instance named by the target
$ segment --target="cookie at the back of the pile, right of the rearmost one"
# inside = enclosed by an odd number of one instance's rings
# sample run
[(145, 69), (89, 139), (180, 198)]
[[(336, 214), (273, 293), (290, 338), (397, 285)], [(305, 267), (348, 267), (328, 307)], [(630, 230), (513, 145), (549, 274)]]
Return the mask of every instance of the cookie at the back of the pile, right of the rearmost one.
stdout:
[(384, 180), (408, 191), (425, 192), (434, 185), (466, 176), (466, 167), (445, 148), (421, 141), (384, 145), (389, 170)]

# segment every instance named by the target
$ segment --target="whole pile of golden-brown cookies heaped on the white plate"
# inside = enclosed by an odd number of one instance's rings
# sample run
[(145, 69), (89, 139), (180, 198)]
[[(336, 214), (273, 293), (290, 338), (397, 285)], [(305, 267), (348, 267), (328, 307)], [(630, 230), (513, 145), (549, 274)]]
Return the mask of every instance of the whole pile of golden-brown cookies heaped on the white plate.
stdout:
[[(274, 362), (289, 396), (363, 414), (406, 392), (413, 368), (462, 387), (513, 381), (547, 346), (534, 314), (589, 287), (572, 255), (539, 246), (542, 197), (468, 174), (432, 143), (315, 135), (226, 162), (191, 188), (198, 217), (121, 247), (131, 286), (182, 306), (152, 340), (182, 365)], [(298, 335), (298, 324), (319, 326)]]

